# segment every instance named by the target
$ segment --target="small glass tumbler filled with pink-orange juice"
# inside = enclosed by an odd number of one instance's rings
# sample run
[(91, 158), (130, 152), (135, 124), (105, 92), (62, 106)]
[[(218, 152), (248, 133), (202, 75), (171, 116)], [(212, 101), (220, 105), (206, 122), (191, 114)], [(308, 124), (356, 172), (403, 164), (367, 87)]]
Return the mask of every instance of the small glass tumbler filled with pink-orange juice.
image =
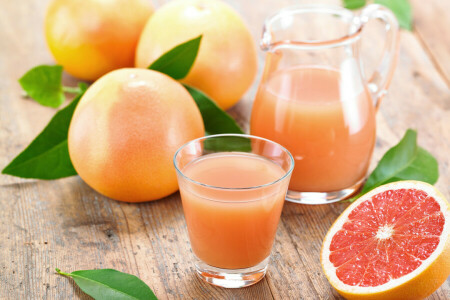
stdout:
[(197, 275), (239, 288), (267, 270), (294, 160), (264, 138), (223, 134), (188, 142), (174, 156)]

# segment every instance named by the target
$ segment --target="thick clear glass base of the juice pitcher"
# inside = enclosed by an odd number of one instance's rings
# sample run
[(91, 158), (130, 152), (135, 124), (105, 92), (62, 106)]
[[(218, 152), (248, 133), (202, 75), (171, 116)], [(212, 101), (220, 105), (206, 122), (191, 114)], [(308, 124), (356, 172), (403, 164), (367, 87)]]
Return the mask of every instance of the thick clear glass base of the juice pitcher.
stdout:
[(364, 178), (353, 186), (333, 192), (297, 192), (289, 190), (286, 194), (286, 200), (300, 204), (329, 204), (344, 200), (355, 194), (364, 182)]

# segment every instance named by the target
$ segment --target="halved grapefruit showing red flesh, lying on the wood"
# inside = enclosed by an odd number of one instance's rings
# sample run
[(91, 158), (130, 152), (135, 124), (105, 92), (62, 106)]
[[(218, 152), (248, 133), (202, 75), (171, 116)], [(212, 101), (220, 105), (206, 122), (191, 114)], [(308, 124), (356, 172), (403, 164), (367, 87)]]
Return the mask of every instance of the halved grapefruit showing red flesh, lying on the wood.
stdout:
[(347, 299), (422, 299), (450, 275), (449, 204), (433, 186), (399, 181), (365, 194), (334, 222), (322, 267)]

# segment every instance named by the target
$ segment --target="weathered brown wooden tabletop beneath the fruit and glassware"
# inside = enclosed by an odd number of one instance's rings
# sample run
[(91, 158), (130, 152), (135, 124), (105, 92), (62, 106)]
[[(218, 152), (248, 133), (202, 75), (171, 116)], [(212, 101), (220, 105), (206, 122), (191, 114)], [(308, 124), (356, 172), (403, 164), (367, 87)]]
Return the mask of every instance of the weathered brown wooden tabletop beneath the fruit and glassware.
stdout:
[[(157, 3), (158, 2), (158, 3)], [(163, 1), (155, 1), (159, 6)], [(299, 1), (229, 1), (259, 40), (264, 18)], [(306, 2), (306, 1), (303, 1)], [(401, 34), (389, 95), (377, 115), (372, 161), (416, 128), (419, 143), (438, 159), (437, 187), (450, 199), (449, 1), (414, 0), (415, 29)], [(425, 3), (426, 2), (426, 3)], [(43, 36), (46, 1), (0, 0), (0, 168), (42, 130), (54, 114), (21, 98), (17, 79), (52, 64)], [(260, 55), (262, 68), (263, 53)], [(261, 70), (260, 70), (261, 71)], [(258, 78), (259, 79), (259, 78)], [(65, 76), (67, 85), (76, 80)], [(255, 81), (230, 112), (248, 128)], [(346, 204), (286, 203), (267, 276), (228, 290), (194, 276), (179, 194), (145, 203), (120, 203), (94, 192), (79, 177), (57, 181), (0, 176), (0, 299), (87, 299), (54, 268), (115, 268), (144, 280), (160, 299), (334, 299), (319, 263), (322, 239)], [(449, 280), (430, 299), (450, 299)]]

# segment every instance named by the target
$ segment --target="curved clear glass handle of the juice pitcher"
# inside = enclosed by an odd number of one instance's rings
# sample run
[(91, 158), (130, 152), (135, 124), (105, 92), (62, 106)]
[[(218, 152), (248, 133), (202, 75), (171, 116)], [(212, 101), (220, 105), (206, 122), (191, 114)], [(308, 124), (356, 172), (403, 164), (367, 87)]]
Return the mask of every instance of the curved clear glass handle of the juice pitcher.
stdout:
[(369, 90), (372, 92), (375, 101), (374, 106), (378, 109), (381, 99), (387, 93), (387, 88), (397, 63), (399, 27), (395, 15), (389, 9), (379, 4), (369, 4), (359, 15), (361, 26), (364, 26), (372, 19), (381, 20), (386, 24), (387, 35), (381, 63), (368, 81)]

